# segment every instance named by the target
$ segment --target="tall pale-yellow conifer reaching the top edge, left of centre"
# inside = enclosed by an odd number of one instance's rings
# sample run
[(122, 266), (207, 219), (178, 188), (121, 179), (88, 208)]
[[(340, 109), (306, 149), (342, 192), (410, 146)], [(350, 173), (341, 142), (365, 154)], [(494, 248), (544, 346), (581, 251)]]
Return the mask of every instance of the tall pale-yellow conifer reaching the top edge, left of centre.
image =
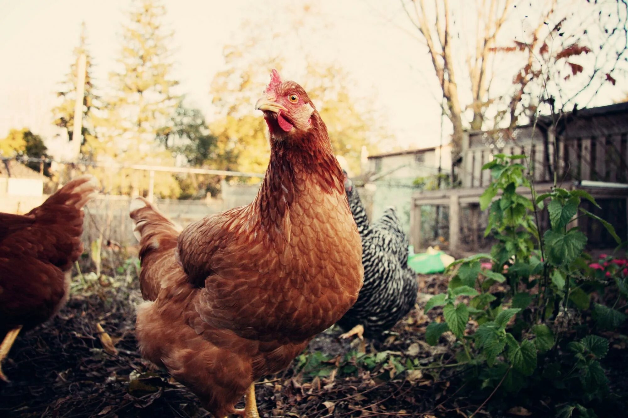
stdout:
[[(171, 77), (170, 48), (173, 32), (166, 29), (166, 9), (158, 0), (133, 2), (129, 20), (122, 28), (118, 69), (110, 74), (108, 118), (103, 139), (106, 158), (117, 163), (173, 166), (173, 152), (160, 141), (160, 132), (176, 114), (180, 97), (178, 82)], [(117, 179), (117, 180), (116, 180)], [(109, 176), (112, 190), (131, 195), (148, 190), (148, 171), (122, 169)], [(176, 197), (180, 187), (175, 176), (155, 173), (154, 193)]]

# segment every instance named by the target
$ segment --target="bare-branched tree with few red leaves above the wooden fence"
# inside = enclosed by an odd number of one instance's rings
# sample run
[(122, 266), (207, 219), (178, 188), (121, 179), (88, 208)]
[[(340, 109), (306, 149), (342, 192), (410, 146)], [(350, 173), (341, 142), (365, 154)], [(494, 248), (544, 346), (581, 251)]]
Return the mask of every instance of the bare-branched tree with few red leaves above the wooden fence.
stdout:
[[(625, 71), (625, 1), (400, 1), (433, 64), (455, 151), (465, 129), (514, 127), (541, 103), (584, 107)], [(525, 9), (524, 21), (511, 18), (514, 8)]]

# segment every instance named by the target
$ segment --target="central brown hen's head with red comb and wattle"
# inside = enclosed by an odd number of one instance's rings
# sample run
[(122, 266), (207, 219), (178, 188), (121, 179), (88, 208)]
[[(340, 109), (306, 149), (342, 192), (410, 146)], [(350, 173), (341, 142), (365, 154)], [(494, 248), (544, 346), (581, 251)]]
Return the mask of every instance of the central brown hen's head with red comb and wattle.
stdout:
[(282, 82), (277, 70), (273, 70), (271, 82), (255, 109), (264, 112), (268, 130), (275, 139), (308, 131), (317, 115), (303, 87), (292, 81)]

